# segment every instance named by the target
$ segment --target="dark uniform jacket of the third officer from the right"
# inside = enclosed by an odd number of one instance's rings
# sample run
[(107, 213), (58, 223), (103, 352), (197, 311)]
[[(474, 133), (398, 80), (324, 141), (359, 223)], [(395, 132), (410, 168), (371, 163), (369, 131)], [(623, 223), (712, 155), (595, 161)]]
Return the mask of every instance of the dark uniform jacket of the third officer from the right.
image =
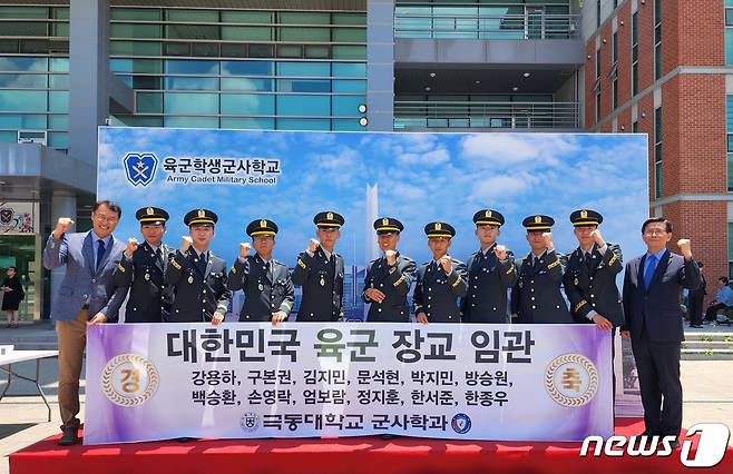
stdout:
[(468, 257), (468, 292), (461, 303), (463, 323), (509, 323), (507, 293), (517, 283), (514, 258), (499, 261), (493, 249)]

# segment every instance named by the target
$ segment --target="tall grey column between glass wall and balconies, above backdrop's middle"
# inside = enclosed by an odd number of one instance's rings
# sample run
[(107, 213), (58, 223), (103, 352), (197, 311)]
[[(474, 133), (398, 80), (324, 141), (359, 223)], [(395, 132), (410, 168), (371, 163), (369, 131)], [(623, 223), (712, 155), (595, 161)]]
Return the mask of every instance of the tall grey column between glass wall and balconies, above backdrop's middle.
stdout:
[(394, 0), (366, 2), (369, 130), (394, 129)]

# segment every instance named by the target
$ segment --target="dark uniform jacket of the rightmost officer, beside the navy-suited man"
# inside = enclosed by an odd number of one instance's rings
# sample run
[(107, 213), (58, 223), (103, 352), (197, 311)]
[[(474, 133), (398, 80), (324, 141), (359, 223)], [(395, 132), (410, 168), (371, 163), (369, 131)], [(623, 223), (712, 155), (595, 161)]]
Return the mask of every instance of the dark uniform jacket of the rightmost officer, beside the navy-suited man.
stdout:
[(624, 324), (624, 307), (616, 286), (616, 275), (624, 269), (623, 256), (618, 245), (606, 245), (605, 254), (600, 255), (594, 244), (589, 263), (580, 247), (568, 259), (563, 286), (576, 323), (593, 323), (588, 313), (595, 309), (614, 327)]

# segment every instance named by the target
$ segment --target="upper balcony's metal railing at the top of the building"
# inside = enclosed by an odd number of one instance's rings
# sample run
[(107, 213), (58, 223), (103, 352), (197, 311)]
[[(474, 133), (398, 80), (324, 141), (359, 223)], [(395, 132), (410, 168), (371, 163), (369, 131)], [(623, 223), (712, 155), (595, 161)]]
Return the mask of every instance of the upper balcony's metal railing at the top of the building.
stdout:
[(579, 37), (579, 14), (394, 13), (394, 38), (546, 40)]

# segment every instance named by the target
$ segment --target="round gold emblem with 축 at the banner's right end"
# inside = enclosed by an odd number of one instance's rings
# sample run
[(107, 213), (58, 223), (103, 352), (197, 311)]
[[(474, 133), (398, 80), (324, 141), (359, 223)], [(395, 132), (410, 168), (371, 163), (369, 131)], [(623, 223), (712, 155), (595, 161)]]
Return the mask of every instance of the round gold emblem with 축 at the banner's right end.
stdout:
[(580, 354), (563, 354), (545, 372), (545, 389), (559, 405), (586, 405), (598, 393), (598, 371)]

